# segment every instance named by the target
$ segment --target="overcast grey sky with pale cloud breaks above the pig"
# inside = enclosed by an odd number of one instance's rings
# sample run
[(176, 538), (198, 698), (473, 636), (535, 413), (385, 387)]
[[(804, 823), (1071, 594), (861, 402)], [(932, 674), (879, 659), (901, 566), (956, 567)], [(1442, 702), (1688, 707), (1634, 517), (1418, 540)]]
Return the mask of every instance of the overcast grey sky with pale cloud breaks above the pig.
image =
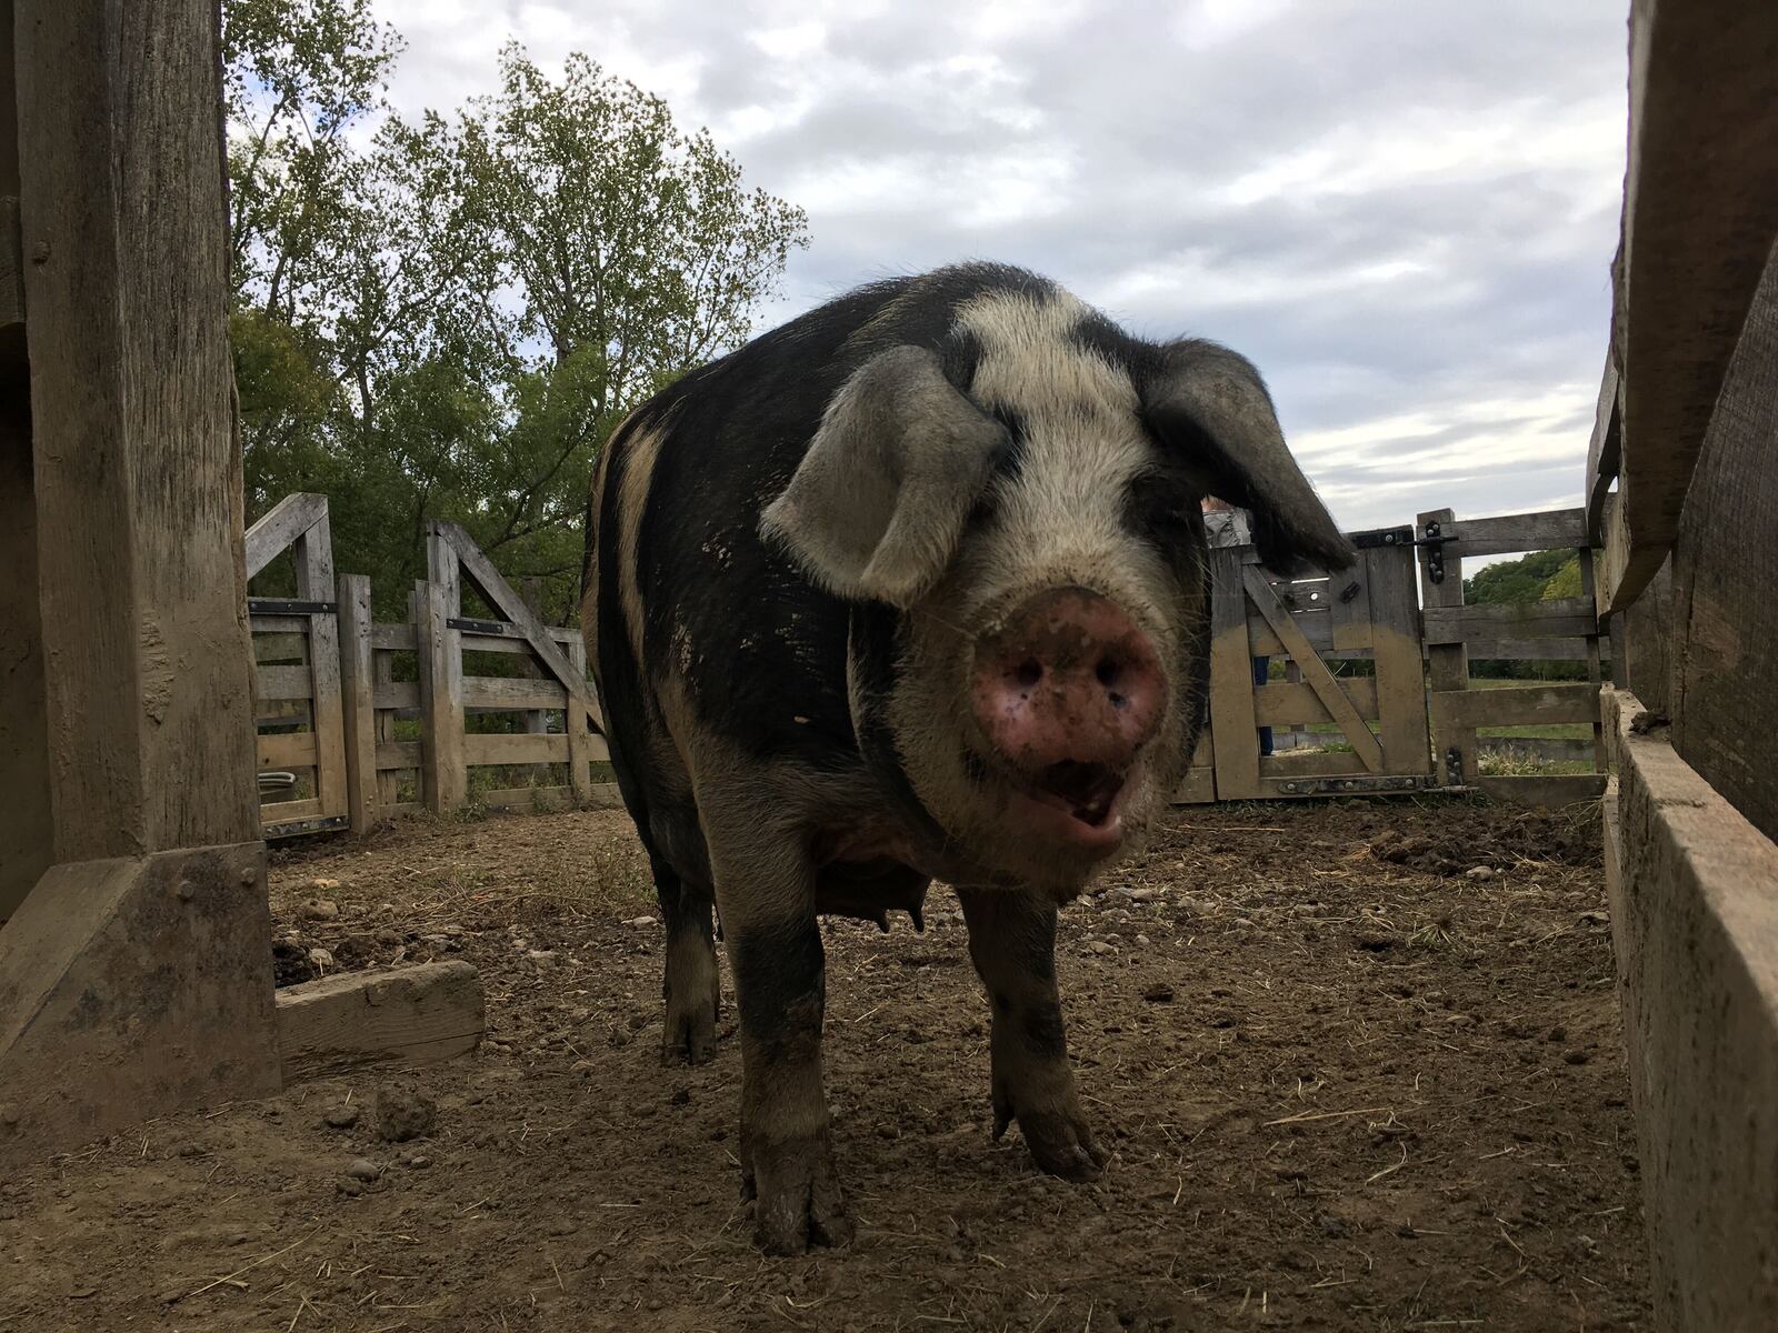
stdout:
[(1581, 503), (1611, 315), (1627, 0), (379, 0), (391, 100), (509, 36), (708, 124), (809, 212), (759, 329), (962, 258), (1271, 384), (1346, 528)]

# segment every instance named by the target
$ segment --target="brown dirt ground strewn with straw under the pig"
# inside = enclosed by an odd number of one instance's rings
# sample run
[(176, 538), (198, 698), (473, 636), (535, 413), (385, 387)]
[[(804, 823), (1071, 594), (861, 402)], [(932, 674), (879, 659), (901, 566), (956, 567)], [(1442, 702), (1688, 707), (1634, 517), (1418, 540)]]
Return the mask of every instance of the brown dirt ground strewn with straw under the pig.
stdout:
[[(752, 1248), (738, 1200), (733, 1036), (708, 1066), (658, 1063), (660, 928), (621, 814), (281, 851), (284, 981), (316, 947), (334, 969), (468, 958), (489, 1040), (0, 1180), (0, 1329), (1639, 1328), (1597, 826), (1181, 812), (1063, 917), (1070, 1047), (1115, 1148), (1090, 1187), (989, 1141), (955, 898), (933, 890), (925, 935), (832, 924), (859, 1237), (795, 1260)], [(437, 1123), (386, 1143), (373, 1107), (402, 1091)]]

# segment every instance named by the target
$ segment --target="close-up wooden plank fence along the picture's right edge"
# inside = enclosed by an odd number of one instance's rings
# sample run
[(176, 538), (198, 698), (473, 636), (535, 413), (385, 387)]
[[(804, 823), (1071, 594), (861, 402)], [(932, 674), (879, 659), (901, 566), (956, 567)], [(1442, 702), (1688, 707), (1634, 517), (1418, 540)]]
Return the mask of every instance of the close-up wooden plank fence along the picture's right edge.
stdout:
[[(1655, 1326), (1778, 1328), (1778, 5), (1636, 0), (1584, 494)], [(1616, 489), (1613, 489), (1616, 483)]]

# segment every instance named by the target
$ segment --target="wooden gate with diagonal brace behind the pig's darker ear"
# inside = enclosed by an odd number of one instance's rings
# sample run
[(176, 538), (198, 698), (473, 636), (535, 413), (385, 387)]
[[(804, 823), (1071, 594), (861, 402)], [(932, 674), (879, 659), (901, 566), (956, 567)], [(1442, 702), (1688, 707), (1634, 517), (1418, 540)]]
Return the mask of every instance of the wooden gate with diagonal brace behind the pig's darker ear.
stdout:
[[(1211, 707), (1182, 802), (1415, 791), (1437, 784), (1414, 530), (1353, 533), (1358, 562), (1277, 578), (1252, 546), (1211, 551)], [(1284, 659), (1282, 681), (1269, 666)], [(1266, 677), (1255, 668), (1264, 663)], [(1261, 754), (1261, 729), (1328, 748)]]

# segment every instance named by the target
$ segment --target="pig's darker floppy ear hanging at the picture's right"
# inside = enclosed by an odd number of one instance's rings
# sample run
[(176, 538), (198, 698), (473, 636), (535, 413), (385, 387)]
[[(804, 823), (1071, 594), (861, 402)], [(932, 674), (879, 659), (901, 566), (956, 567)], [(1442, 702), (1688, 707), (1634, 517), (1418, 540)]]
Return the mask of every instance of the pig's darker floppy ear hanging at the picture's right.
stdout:
[(1246, 357), (1216, 343), (1172, 343), (1141, 400), (1149, 428), (1209, 494), (1253, 515), (1253, 544), (1269, 569), (1353, 563), (1351, 544), (1291, 457), (1271, 395)]

